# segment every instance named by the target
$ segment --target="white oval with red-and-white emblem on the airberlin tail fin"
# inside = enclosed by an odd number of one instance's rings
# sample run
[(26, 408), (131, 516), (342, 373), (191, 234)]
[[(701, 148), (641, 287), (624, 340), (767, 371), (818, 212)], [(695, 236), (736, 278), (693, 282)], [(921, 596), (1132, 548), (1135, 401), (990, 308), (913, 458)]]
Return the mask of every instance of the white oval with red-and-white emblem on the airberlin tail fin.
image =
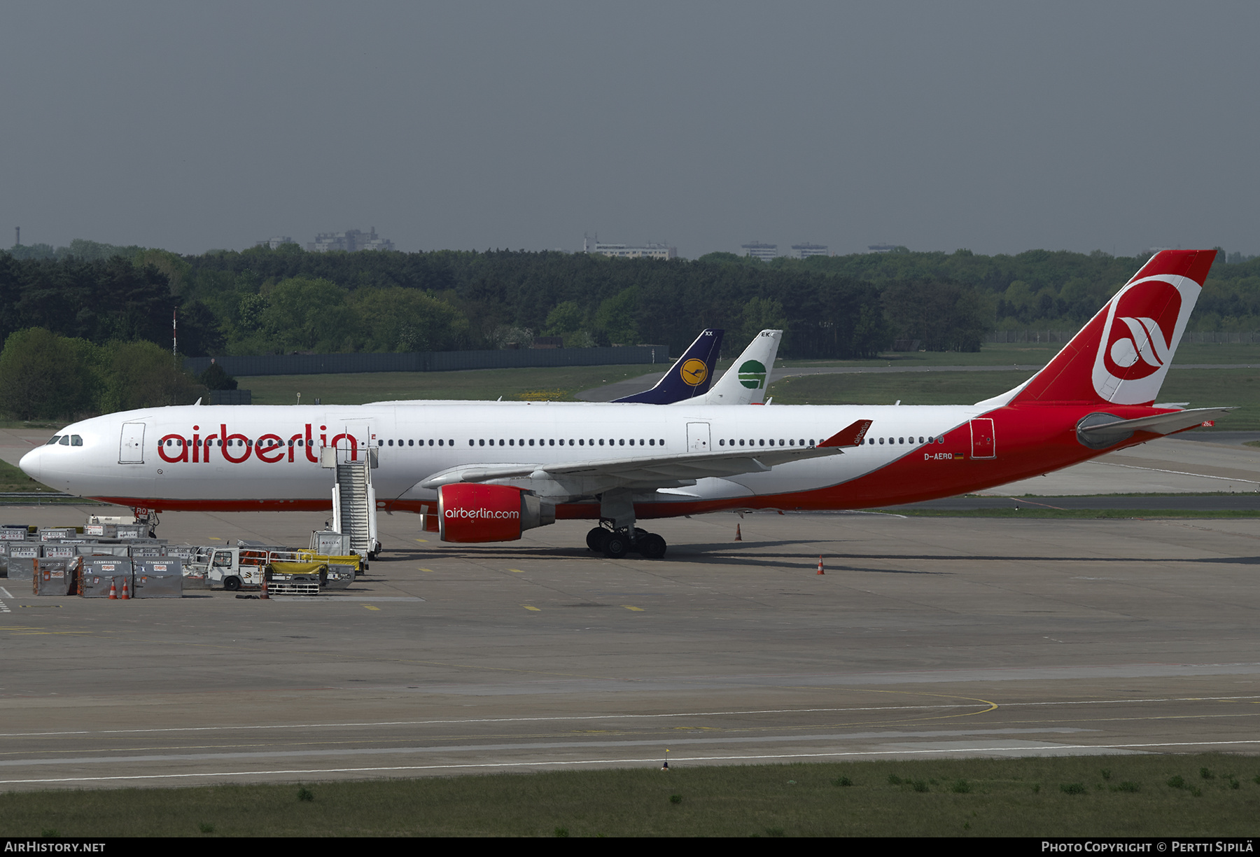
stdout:
[(1193, 280), (1157, 275), (1130, 284), (1111, 301), (1094, 360), (1094, 389), (1102, 400), (1154, 401), (1198, 290)]

